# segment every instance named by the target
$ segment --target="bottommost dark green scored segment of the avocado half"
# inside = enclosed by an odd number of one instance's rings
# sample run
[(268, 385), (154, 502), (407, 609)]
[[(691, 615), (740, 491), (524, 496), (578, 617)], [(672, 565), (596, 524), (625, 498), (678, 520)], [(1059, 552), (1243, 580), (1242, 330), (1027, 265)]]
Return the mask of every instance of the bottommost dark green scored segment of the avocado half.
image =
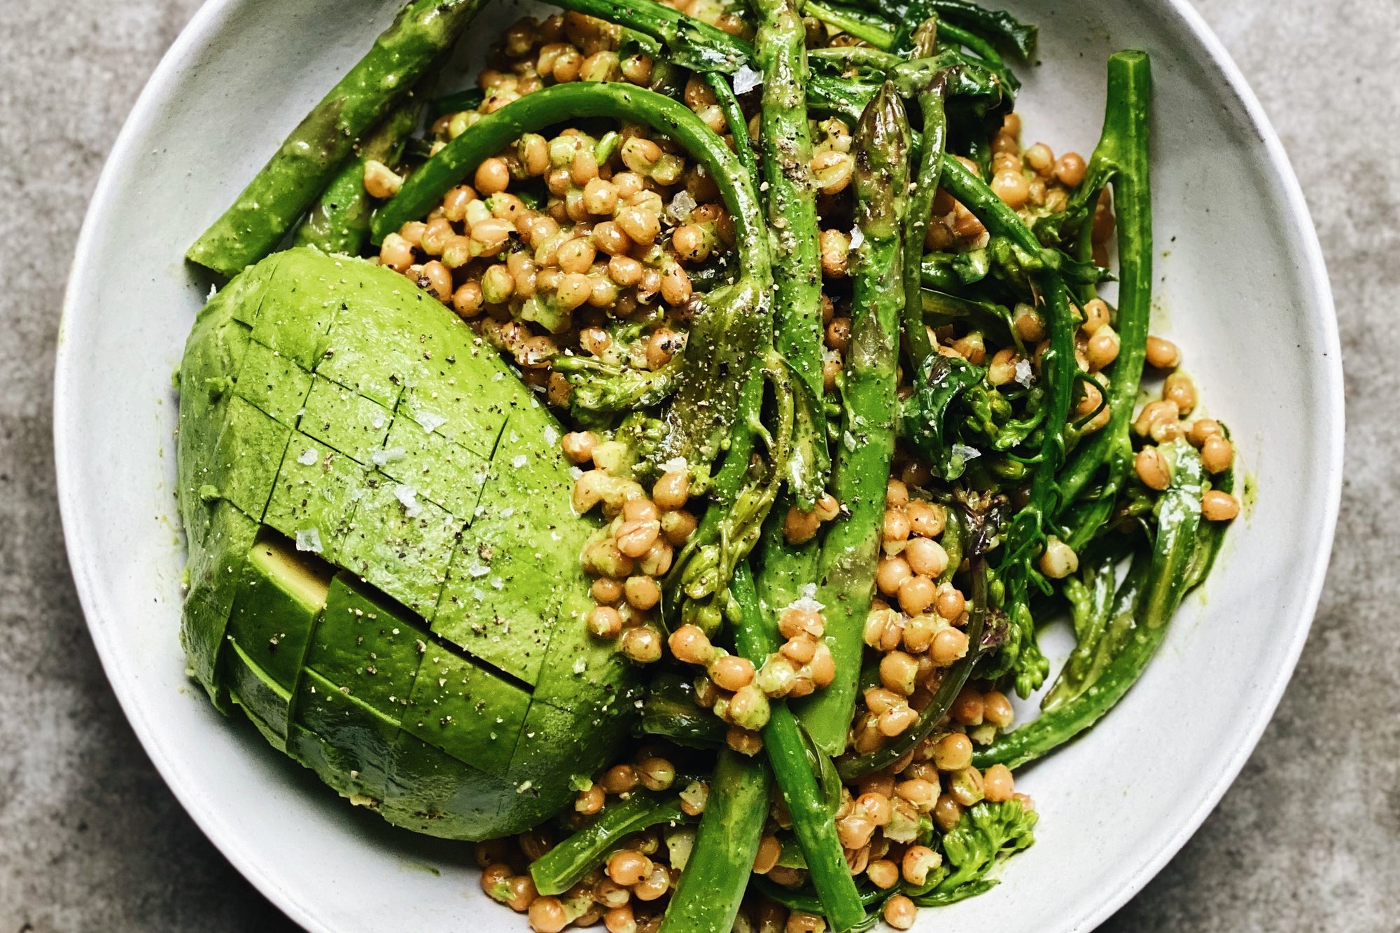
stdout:
[(444, 839), (486, 839), (539, 822), (503, 824), (503, 810), (522, 801), (512, 785), (482, 773), (441, 748), (399, 733), (393, 776), (382, 811), (400, 827)]

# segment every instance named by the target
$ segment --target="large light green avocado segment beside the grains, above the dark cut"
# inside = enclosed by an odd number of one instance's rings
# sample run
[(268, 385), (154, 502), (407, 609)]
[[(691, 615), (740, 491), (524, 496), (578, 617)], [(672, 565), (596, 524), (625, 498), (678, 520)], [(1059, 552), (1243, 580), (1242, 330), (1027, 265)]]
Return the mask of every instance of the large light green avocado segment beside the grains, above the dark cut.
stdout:
[(554, 632), (564, 625), (582, 632), (581, 619), (560, 614), (564, 594), (588, 591), (578, 555), (591, 525), (573, 514), (563, 458), (517, 427), (525, 419), (512, 419), (501, 434), (433, 630), (533, 685)]

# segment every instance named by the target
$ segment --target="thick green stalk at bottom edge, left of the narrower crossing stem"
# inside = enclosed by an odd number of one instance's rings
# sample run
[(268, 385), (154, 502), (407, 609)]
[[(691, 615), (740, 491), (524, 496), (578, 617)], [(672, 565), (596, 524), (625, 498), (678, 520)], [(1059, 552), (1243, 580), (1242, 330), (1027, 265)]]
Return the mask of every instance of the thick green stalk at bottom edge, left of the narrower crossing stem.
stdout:
[(711, 933), (734, 926), (769, 818), (769, 782), (762, 758), (720, 749), (694, 846), (661, 919), (661, 933)]

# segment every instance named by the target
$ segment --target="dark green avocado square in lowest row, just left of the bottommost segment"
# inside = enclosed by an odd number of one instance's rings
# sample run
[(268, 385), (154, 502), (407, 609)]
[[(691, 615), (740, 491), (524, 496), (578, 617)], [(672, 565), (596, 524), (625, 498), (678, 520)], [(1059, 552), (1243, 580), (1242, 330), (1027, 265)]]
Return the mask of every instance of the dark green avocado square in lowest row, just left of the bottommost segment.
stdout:
[(377, 806), (389, 794), (398, 720), (312, 670), (297, 684), (293, 710), (287, 734), (293, 758), (356, 803)]

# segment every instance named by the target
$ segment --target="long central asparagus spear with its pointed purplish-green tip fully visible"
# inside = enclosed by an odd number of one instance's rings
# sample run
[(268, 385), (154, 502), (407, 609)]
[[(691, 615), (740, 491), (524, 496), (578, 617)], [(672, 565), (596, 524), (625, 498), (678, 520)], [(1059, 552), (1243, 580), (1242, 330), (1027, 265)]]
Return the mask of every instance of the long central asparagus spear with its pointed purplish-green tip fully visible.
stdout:
[(843, 441), (833, 475), (833, 493), (850, 516), (827, 532), (818, 565), (818, 600), (826, 605), (836, 679), (801, 709), (812, 740), (830, 755), (846, 749), (855, 710), (899, 410), (900, 226), (909, 199), (909, 127), (893, 84), (886, 83), (865, 108), (855, 150), (855, 223), (864, 241), (855, 254)]

